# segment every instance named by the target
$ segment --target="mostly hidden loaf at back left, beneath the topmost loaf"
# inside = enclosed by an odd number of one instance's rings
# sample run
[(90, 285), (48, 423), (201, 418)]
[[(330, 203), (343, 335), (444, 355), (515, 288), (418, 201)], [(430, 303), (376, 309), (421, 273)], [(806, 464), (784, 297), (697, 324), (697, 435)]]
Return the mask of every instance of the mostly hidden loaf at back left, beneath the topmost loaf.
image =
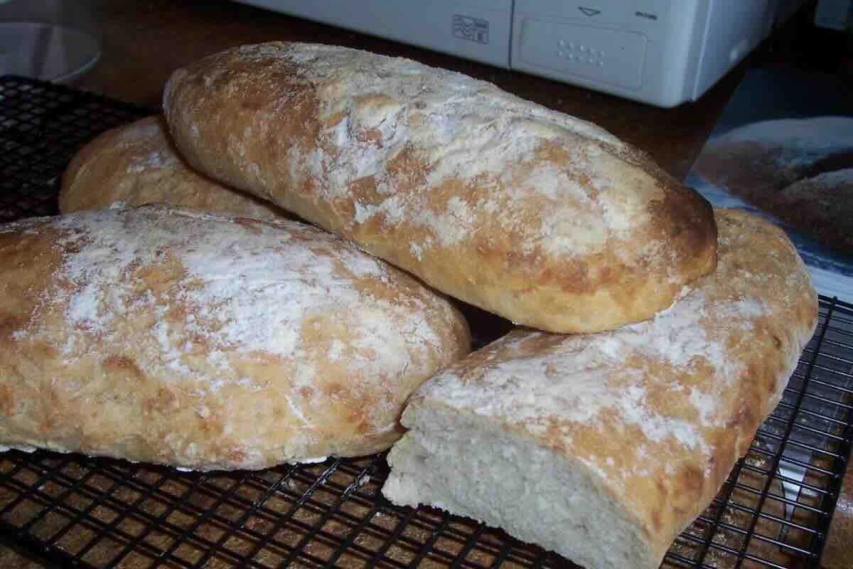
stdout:
[(293, 217), (278, 206), (227, 188), (190, 168), (171, 143), (162, 116), (102, 133), (74, 155), (62, 176), (62, 213), (150, 203), (247, 218)]

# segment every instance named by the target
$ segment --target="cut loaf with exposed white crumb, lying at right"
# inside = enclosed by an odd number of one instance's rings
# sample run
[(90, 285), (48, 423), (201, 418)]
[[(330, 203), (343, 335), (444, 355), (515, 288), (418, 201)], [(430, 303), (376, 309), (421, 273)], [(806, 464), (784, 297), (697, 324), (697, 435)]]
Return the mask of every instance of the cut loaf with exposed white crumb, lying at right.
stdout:
[(780, 401), (817, 298), (782, 231), (717, 212), (717, 271), (648, 322), (518, 329), (427, 380), (383, 493), (588, 569), (654, 569)]

